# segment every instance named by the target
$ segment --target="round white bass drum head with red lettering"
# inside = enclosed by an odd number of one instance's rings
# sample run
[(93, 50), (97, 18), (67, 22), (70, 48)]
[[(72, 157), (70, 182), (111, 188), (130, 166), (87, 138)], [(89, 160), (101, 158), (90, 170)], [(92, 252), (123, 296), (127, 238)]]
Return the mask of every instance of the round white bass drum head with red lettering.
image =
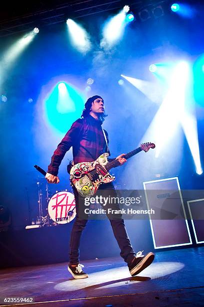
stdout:
[(60, 191), (52, 195), (48, 203), (48, 215), (57, 224), (70, 223), (76, 216), (73, 193)]

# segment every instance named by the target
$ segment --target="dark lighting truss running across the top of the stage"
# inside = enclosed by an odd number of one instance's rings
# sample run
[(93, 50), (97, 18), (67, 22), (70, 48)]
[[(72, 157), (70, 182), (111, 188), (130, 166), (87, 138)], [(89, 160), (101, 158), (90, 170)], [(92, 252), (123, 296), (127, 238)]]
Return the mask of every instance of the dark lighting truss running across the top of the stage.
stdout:
[(124, 5), (128, 5), (131, 10), (138, 12), (145, 7), (155, 6), (164, 2), (167, 2), (167, 0), (77, 0), (67, 1), (64, 4), (55, 5), (53, 8), (49, 7), (49, 9), (44, 9), (45, 4), (42, 2), (42, 6), (39, 6), (40, 10), (34, 13), (1, 21), (0, 37), (30, 31), (36, 25), (42, 28), (43, 26), (64, 23), (67, 18), (78, 19), (107, 11), (116, 11)]

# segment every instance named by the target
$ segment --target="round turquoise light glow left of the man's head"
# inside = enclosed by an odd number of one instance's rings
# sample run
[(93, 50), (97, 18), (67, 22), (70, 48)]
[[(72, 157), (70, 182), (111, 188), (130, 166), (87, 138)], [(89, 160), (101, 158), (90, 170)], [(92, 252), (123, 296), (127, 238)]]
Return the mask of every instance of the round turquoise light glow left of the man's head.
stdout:
[[(52, 78), (43, 86), (36, 101), (36, 105), (39, 107), (35, 114), (38, 123), (42, 126), (45, 124), (50, 129), (49, 131), (54, 132), (53, 137), (56, 139), (60, 139), (71, 127), (73, 121), (80, 117), (84, 101), (87, 100), (84, 91), (78, 89), (81, 87), (80, 82), (78, 81), (78, 87), (75, 87), (69, 83), (70, 79), (72, 79), (70, 75), (64, 74)], [(75, 79), (72, 80), (76, 83)], [(65, 84), (66, 91), (59, 90), (59, 83)], [(45, 135), (46, 131), (46, 129), (41, 129), (41, 136)], [(38, 130), (35, 132), (36, 138), (40, 142), (41, 136), (39, 136)]]

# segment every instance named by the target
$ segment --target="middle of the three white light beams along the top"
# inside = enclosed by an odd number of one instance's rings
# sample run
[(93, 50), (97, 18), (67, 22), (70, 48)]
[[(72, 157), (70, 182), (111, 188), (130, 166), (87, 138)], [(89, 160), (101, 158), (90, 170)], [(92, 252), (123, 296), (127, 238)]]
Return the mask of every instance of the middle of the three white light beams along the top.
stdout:
[(69, 35), (72, 44), (82, 53), (86, 53), (90, 50), (90, 40), (88, 33), (81, 26), (76, 24), (73, 20), (68, 19), (66, 21)]

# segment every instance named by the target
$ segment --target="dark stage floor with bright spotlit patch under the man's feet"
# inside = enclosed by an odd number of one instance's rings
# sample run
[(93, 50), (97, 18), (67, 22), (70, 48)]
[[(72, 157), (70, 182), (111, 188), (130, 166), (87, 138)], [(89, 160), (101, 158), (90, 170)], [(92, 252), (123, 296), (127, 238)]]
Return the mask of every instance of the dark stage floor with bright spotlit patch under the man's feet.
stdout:
[(1, 300), (32, 296), (35, 303), (23, 304), (29, 306), (204, 305), (204, 246), (157, 252), (135, 277), (119, 257), (81, 263), (89, 277), (78, 280), (67, 263), (3, 269)]

